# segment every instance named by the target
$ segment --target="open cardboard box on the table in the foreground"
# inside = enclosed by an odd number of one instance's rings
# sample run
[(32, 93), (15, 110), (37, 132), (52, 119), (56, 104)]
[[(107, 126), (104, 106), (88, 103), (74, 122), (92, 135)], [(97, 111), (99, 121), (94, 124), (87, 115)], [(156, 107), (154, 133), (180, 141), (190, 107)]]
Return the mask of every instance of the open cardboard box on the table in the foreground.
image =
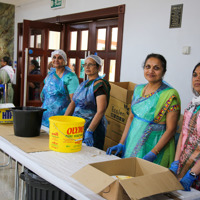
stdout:
[[(114, 175), (133, 178), (120, 180)], [(110, 200), (137, 200), (183, 189), (169, 169), (136, 157), (89, 164), (72, 177)]]

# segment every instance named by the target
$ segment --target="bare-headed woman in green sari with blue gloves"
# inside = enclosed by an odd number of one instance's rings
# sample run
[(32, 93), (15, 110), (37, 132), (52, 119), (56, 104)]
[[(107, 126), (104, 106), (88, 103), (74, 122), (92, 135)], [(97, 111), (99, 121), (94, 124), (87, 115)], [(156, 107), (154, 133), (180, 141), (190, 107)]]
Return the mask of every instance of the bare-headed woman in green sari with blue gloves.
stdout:
[(174, 134), (180, 115), (178, 92), (163, 82), (166, 60), (150, 54), (144, 63), (147, 84), (136, 86), (120, 143), (107, 154), (122, 151), (122, 157), (139, 157), (168, 167), (175, 155)]

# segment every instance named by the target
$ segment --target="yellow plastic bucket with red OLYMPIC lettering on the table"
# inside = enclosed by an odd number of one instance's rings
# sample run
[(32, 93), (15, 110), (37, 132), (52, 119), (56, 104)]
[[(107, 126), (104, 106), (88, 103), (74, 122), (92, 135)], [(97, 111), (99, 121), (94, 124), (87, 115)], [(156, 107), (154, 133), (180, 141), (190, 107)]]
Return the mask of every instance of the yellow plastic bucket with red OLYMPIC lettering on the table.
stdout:
[(72, 116), (52, 116), (49, 122), (49, 149), (64, 153), (81, 150), (85, 119)]

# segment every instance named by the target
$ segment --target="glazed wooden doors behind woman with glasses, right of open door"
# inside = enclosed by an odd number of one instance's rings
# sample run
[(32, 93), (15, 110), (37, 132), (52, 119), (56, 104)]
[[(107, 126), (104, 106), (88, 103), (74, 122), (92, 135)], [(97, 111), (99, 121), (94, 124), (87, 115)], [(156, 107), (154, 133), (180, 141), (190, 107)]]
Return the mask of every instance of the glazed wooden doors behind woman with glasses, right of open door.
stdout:
[(69, 24), (66, 33), (68, 64), (80, 81), (84, 78), (84, 58), (89, 54), (103, 59), (100, 75), (105, 74), (109, 81), (119, 80), (120, 69), (116, 68), (118, 18)]

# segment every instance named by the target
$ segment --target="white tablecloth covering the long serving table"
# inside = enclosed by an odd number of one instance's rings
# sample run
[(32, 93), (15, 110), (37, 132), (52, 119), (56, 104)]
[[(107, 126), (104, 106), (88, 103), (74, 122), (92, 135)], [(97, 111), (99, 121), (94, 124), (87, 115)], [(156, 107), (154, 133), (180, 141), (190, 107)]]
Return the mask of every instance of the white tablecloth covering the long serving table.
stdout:
[[(60, 153), (54, 151), (25, 153), (3, 137), (0, 137), (0, 149), (31, 171), (78, 200), (101, 200), (104, 198), (71, 178), (71, 175), (89, 163), (119, 159), (116, 156), (106, 155), (104, 151), (85, 145), (82, 146), (80, 152), (76, 153)], [(172, 196), (177, 196), (178, 199), (184, 200), (197, 200), (200, 199), (200, 192), (194, 189), (192, 189), (192, 192), (176, 191), (172, 193)], [(161, 194), (145, 198), (145, 200), (171, 200), (174, 199), (172, 196)]]

